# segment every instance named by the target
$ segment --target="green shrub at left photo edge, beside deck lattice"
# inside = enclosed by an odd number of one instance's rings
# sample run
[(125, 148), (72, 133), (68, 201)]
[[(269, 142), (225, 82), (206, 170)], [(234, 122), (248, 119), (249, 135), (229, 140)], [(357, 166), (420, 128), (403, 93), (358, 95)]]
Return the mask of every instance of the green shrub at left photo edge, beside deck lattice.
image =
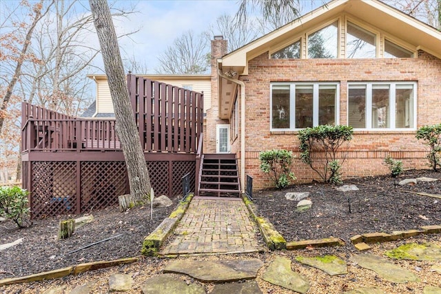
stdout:
[(0, 216), (12, 220), (19, 228), (28, 222), (28, 191), (20, 187), (0, 187)]

